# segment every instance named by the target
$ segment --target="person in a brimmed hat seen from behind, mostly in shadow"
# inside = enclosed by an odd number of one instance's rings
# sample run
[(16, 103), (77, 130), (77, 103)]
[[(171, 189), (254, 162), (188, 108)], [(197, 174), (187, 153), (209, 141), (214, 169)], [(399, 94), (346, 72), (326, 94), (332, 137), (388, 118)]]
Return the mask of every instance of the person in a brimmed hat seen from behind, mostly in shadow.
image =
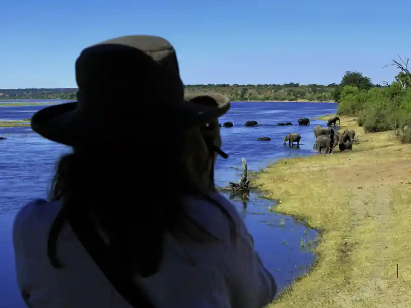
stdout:
[(217, 119), (228, 98), (184, 99), (174, 48), (155, 36), (86, 48), (76, 80), (78, 102), (46, 107), (31, 120), (34, 131), (72, 152), (59, 160), (49, 200), (28, 203), (14, 221), (27, 305), (271, 302), (275, 281), (214, 185), (216, 152), (225, 156)]

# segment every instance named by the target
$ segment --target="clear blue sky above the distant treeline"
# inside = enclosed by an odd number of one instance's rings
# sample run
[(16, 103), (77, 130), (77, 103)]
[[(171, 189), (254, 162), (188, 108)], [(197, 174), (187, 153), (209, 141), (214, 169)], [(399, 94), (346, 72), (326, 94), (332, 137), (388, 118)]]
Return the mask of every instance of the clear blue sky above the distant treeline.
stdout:
[(155, 34), (186, 84), (329, 84), (346, 70), (391, 81), (411, 57), (411, 1), (12, 0), (0, 6), (0, 88), (76, 87), (88, 45)]

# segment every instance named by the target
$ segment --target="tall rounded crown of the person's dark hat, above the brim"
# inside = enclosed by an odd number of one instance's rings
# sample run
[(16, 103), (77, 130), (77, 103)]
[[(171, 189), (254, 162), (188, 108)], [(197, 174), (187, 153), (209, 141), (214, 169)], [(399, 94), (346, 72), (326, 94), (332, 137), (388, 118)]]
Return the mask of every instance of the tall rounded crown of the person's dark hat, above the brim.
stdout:
[(159, 36), (122, 36), (85, 48), (76, 81), (79, 105), (136, 96), (170, 105), (184, 97), (174, 47)]

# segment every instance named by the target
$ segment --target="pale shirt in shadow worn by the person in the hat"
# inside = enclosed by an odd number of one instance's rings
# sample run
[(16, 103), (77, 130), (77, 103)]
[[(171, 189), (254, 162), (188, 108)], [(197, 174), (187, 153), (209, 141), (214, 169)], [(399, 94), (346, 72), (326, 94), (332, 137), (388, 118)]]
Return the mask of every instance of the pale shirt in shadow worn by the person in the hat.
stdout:
[[(254, 251), (253, 238), (234, 205), (215, 193), (236, 224), (236, 239), (221, 210), (207, 200), (187, 198), (190, 215), (220, 241), (197, 243), (165, 238), (160, 271), (136, 278), (158, 308), (257, 308), (270, 303), (277, 287)], [(29, 295), (32, 308), (130, 308), (89, 257), (69, 224), (58, 239), (62, 269), (47, 257), (49, 228), (61, 209), (59, 202), (42, 199), (25, 205), (13, 226), (17, 283)], [(193, 265), (194, 264), (194, 265)]]

